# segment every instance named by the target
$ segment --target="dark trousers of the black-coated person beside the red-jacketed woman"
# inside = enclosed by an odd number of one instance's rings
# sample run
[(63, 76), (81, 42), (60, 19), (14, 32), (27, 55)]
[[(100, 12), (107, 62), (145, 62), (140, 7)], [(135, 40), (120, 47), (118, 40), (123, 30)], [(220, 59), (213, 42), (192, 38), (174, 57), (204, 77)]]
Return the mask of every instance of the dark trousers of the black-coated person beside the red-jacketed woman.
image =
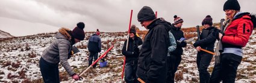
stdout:
[(212, 54), (201, 51), (198, 52), (198, 55), (196, 56), (196, 64), (198, 66), (200, 83), (209, 82), (210, 73), (207, 71), (207, 69), (211, 63), (211, 59), (213, 59)]

